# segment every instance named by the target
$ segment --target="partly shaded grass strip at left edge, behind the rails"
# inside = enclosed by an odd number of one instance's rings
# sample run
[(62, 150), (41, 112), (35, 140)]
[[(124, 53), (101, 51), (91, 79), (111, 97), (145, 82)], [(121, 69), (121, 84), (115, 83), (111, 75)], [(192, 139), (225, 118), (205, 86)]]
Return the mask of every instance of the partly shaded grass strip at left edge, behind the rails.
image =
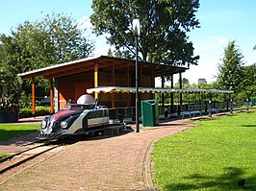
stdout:
[(0, 124), (0, 141), (39, 131), (39, 125), (5, 125)]

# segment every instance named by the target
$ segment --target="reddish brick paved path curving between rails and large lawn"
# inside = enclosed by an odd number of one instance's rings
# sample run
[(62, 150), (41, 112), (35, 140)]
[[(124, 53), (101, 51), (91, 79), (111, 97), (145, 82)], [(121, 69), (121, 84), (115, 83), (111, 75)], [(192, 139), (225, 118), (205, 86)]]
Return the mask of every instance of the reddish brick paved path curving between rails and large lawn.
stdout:
[(146, 190), (149, 145), (191, 126), (172, 121), (140, 133), (80, 141), (0, 184), (0, 190)]

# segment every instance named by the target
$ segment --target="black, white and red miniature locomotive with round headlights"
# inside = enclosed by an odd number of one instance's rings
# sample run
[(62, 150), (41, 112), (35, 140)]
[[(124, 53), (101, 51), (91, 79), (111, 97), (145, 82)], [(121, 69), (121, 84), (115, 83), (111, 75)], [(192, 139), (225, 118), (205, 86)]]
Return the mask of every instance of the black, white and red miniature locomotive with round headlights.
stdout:
[(67, 135), (103, 131), (109, 126), (109, 109), (98, 106), (97, 103), (88, 94), (82, 95), (76, 104), (68, 103), (62, 110), (41, 121), (37, 138), (55, 139)]

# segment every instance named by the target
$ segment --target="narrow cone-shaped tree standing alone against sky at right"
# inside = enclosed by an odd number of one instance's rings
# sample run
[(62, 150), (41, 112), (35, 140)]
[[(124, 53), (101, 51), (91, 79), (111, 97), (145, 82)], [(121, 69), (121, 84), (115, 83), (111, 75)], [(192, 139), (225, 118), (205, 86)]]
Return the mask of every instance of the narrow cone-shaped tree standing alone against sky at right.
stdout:
[(242, 88), (243, 64), (243, 55), (235, 45), (235, 40), (230, 41), (224, 50), (223, 59), (218, 64), (218, 88), (238, 93)]

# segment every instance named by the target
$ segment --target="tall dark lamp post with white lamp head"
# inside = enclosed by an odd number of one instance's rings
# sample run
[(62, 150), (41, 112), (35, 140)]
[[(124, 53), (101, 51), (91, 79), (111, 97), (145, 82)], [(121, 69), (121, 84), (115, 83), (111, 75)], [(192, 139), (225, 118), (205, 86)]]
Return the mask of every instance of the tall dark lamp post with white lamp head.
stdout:
[(140, 20), (138, 18), (133, 20), (133, 33), (135, 35), (136, 43), (136, 61), (135, 61), (135, 82), (136, 82), (136, 132), (140, 132), (139, 126), (139, 66), (138, 66), (138, 37), (141, 34)]

